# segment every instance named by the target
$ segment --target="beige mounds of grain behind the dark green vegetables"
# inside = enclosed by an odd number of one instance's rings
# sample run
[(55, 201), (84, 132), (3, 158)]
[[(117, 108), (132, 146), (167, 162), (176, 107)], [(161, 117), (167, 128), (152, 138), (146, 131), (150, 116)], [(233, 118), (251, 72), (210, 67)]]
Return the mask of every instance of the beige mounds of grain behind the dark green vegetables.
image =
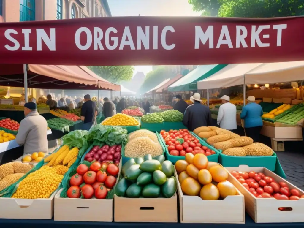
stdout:
[(124, 148), (125, 157), (144, 157), (147, 154), (158, 156), (162, 155), (163, 152), (156, 135), (148, 130), (137, 130), (130, 133), (128, 143)]

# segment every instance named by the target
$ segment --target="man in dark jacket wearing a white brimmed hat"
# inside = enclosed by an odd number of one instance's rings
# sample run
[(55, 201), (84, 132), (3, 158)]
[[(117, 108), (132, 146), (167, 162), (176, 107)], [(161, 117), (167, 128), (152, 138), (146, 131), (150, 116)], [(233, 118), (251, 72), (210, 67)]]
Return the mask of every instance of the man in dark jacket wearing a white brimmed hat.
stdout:
[(190, 100), (194, 104), (187, 107), (183, 118), (183, 124), (188, 130), (193, 131), (198, 127), (212, 126), (211, 111), (209, 107), (201, 104), (201, 95), (195, 93)]

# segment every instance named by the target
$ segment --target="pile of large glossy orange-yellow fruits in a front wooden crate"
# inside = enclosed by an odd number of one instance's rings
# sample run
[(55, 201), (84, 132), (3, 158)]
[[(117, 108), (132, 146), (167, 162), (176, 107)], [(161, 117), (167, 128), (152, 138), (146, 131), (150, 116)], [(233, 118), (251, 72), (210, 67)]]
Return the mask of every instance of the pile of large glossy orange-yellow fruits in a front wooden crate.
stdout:
[(228, 172), (204, 154), (187, 153), (186, 160), (175, 163), (178, 181), (185, 195), (199, 195), (203, 200), (225, 199), (237, 195), (237, 189), (227, 181)]

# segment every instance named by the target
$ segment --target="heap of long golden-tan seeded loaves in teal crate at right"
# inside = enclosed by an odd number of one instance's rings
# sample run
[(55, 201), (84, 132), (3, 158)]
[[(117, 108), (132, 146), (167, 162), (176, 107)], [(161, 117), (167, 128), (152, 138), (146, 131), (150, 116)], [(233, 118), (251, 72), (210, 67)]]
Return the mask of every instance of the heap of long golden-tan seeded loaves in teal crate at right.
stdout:
[(194, 131), (209, 145), (229, 156), (272, 156), (273, 150), (263, 143), (254, 143), (250, 137), (239, 136), (215, 126), (198, 127)]

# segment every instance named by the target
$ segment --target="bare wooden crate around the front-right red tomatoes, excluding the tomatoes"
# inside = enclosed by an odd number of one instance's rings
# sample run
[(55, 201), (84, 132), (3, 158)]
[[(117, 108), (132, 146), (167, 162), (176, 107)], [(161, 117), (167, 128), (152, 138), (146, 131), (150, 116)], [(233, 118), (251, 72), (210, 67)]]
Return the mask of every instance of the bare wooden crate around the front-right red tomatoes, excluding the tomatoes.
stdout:
[[(240, 165), (239, 167), (225, 167), (229, 172), (243, 171), (243, 172), (262, 172), (266, 176), (274, 178), (276, 181), (284, 181), (289, 188), (297, 189), (301, 194), (304, 192), (292, 185), (277, 174), (271, 172), (264, 167), (248, 167), (247, 165)], [(304, 199), (299, 200), (277, 200), (275, 198), (256, 198), (252, 195), (236, 178), (233, 184), (245, 196), (245, 208), (247, 213), (256, 223), (302, 223), (304, 222)], [(280, 211), (280, 207), (291, 207), (292, 211)]]

